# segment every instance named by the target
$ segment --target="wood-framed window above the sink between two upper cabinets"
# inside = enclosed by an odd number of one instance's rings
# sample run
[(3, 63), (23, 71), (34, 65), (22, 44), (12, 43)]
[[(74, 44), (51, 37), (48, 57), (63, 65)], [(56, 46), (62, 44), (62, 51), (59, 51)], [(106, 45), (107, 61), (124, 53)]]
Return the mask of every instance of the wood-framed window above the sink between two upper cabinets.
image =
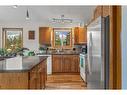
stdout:
[(71, 47), (71, 28), (54, 28), (54, 47)]

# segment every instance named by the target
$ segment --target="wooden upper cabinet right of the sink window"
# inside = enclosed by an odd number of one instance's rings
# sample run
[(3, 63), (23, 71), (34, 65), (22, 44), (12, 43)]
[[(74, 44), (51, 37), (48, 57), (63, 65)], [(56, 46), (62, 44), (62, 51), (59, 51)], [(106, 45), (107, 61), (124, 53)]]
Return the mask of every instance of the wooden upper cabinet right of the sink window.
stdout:
[(74, 44), (85, 44), (87, 42), (87, 28), (75, 27), (74, 28)]

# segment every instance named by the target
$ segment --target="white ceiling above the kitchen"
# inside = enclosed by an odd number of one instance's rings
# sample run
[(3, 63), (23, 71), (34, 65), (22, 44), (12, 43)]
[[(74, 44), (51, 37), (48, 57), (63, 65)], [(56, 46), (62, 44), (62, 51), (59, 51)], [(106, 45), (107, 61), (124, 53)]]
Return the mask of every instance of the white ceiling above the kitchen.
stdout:
[(23, 23), (26, 21), (26, 10), (29, 10), (30, 21), (36, 23), (51, 23), (52, 18), (71, 18), (75, 22), (91, 19), (95, 6), (0, 6), (0, 23)]

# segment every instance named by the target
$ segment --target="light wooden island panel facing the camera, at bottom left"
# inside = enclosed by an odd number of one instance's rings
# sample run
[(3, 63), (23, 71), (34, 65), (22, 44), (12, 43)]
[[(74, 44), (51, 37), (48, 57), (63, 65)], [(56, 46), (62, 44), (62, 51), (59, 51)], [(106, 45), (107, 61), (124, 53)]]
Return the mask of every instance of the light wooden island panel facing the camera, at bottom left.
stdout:
[(28, 73), (1, 72), (0, 89), (29, 89)]

